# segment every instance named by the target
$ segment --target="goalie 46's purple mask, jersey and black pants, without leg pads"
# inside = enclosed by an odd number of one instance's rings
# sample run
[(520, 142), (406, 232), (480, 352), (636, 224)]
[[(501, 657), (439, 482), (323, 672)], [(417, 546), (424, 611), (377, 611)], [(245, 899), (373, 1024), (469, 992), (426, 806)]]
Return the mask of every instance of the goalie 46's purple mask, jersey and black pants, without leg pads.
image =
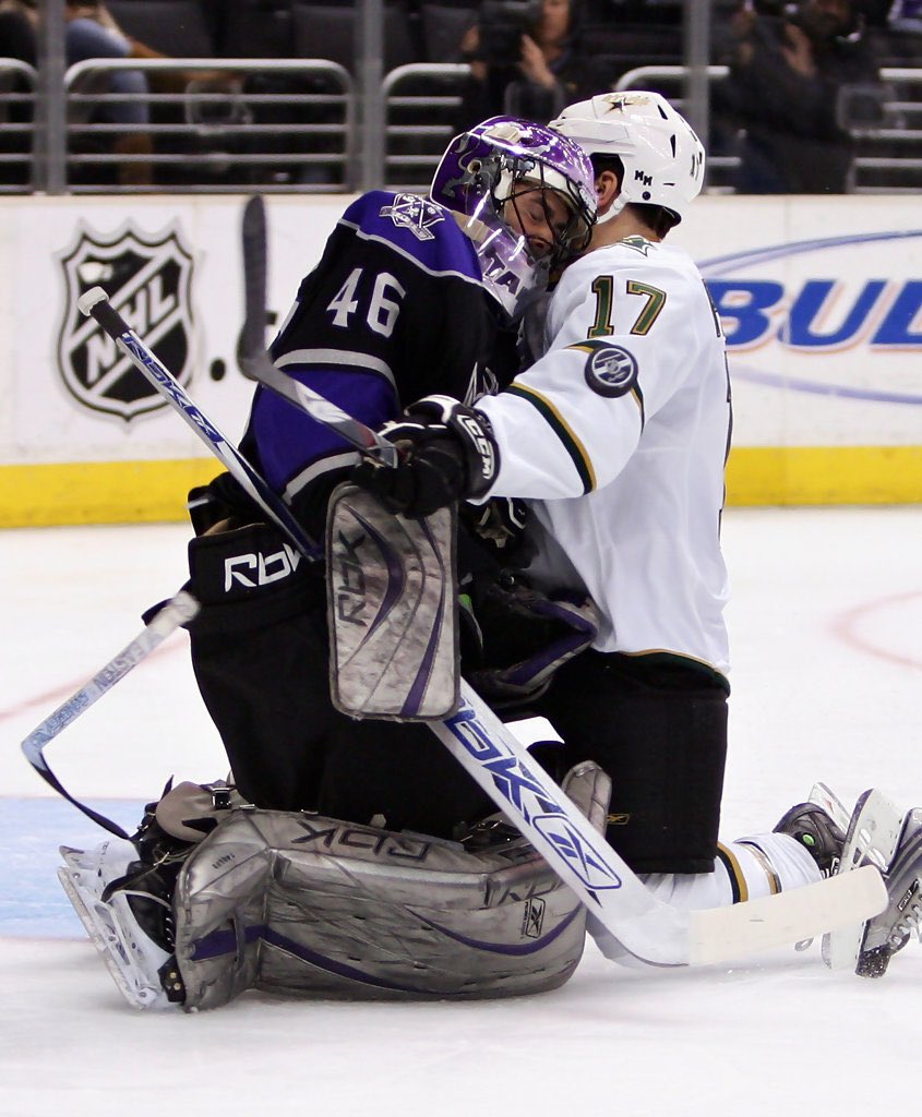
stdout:
[[(374, 191), (349, 207), (272, 346), (279, 369), (369, 426), (433, 388), (473, 402), (507, 383), (523, 304), (588, 242), (592, 171), (571, 141), (496, 117), (449, 153), (450, 195)], [(330, 493), (355, 451), (262, 388), (241, 449), (323, 538)], [(278, 533), (253, 521), (221, 477), (197, 496), (190, 546), (203, 605), (192, 661), (240, 793), (258, 806), (379, 817), (444, 837), (482, 817), (485, 798), (424, 727), (333, 709), (323, 572), (295, 569)], [(489, 563), (466, 533), (459, 551), (462, 577)]]

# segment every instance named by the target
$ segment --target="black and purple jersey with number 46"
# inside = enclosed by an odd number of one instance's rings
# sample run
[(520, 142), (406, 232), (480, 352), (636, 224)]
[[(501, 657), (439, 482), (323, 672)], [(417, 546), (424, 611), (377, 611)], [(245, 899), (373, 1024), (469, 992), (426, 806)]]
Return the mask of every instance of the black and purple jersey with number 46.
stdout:
[[(373, 428), (434, 392), (470, 403), (516, 371), (514, 332), (454, 214), (383, 191), (345, 211), (270, 352), (288, 375)], [(358, 460), (351, 446), (259, 388), (243, 449), (320, 536), (327, 496)]]

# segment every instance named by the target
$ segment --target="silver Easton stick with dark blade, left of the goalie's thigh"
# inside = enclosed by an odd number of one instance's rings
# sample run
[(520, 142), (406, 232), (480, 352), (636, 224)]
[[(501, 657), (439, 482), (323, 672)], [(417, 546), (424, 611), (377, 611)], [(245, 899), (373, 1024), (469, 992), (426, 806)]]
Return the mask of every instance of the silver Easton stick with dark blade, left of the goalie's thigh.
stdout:
[(103, 695), (107, 694), (142, 659), (146, 659), (180, 624), (191, 621), (198, 611), (199, 603), (196, 599), (184, 590), (180, 590), (130, 645), (124, 647), (117, 656), (113, 657), (105, 667), (97, 671), (79, 690), (75, 691), (67, 701), (58, 706), (22, 742), (22, 752), (26, 754), (26, 760), (42, 780), (54, 787), (59, 795), (63, 795), (69, 803), (73, 803), (77, 810), (83, 811), (87, 818), (93, 819), (104, 830), (108, 830), (110, 833), (114, 833), (118, 838), (127, 838), (127, 834), (117, 823), (75, 799), (60, 783), (45, 760), (45, 746), (54, 741), (63, 729), (66, 729), (72, 722), (75, 722), (80, 714), (98, 701)]

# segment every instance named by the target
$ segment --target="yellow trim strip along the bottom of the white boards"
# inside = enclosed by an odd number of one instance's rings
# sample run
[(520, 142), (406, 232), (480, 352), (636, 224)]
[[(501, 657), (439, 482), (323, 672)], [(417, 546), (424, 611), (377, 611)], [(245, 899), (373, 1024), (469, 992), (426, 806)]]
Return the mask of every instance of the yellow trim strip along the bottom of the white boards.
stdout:
[[(0, 527), (186, 519), (186, 494), (221, 471), (212, 458), (0, 466)], [(922, 446), (735, 448), (728, 504), (922, 503)]]

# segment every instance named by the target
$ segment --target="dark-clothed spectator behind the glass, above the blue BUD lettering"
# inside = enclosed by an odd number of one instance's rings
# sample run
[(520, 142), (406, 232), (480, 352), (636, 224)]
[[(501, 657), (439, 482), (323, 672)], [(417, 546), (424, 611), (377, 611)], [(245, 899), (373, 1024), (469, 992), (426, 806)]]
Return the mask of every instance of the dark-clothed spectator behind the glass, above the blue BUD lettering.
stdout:
[[(853, 0), (801, 0), (792, 10), (745, 2), (733, 16), (728, 80), (714, 109), (743, 131), (741, 193), (842, 193), (853, 141), (840, 93), (880, 86)], [(847, 121), (845, 122), (847, 123)]]

